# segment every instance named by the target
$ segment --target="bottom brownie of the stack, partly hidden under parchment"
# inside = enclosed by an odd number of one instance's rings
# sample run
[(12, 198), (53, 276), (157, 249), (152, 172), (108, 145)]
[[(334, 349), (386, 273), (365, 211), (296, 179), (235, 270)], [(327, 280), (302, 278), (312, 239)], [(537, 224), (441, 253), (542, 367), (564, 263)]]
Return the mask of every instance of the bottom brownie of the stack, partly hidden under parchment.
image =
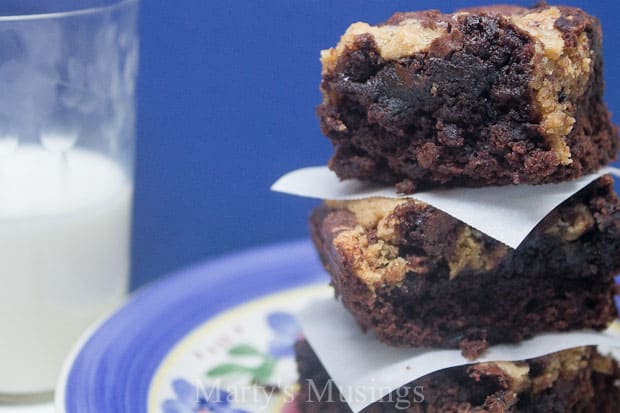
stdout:
[[(350, 413), (341, 392), (308, 343), (297, 342), (295, 350), (299, 410)], [(351, 393), (350, 389), (346, 391)], [(615, 359), (594, 347), (574, 348), (522, 362), (477, 363), (422, 377), (362, 410), (404, 411), (616, 413), (620, 411), (620, 367)]]

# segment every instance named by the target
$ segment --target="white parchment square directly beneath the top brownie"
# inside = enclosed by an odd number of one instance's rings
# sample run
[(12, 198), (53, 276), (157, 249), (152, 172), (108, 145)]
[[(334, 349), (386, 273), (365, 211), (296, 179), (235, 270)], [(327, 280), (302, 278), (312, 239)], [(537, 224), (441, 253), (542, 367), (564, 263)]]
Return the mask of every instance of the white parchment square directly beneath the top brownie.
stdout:
[(354, 179), (340, 181), (327, 167), (320, 166), (290, 172), (278, 179), (271, 189), (290, 195), (333, 200), (414, 198), (511, 248), (517, 248), (555, 207), (608, 173), (620, 176), (620, 169), (607, 166), (597, 173), (559, 184), (452, 188), (403, 196), (397, 194), (393, 186), (370, 185)]

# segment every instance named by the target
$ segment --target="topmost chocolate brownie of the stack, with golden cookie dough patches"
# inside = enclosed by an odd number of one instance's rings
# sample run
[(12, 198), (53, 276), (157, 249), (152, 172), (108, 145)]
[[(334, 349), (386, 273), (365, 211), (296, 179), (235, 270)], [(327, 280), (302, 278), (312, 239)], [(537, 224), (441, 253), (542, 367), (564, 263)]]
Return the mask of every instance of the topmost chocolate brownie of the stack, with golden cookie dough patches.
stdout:
[(321, 129), (340, 178), (542, 184), (615, 159), (598, 20), (571, 7), (397, 13), (321, 53)]

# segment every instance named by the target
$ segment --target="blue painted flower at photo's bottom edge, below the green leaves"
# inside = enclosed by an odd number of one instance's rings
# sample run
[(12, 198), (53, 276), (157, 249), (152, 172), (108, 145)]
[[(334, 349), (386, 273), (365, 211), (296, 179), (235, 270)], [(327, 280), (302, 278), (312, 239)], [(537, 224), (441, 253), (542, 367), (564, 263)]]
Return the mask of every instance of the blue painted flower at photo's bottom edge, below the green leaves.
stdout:
[(163, 413), (249, 413), (230, 405), (230, 393), (210, 386), (198, 389), (184, 379), (172, 382), (176, 399), (162, 404)]

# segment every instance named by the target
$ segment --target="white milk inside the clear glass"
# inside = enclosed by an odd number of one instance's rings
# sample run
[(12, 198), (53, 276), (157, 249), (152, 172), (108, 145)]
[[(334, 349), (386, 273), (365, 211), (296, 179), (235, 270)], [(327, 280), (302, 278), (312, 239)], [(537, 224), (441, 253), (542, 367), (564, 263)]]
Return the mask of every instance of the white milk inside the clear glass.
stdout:
[(0, 394), (53, 389), (128, 284), (132, 186), (94, 152), (0, 152)]

